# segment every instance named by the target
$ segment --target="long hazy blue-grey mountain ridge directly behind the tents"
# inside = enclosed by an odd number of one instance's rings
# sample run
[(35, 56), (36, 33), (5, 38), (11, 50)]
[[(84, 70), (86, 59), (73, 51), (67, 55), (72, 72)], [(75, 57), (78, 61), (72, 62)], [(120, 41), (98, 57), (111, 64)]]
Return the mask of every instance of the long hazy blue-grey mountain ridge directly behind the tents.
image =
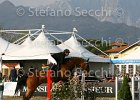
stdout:
[[(24, 9), (23, 16), (17, 14), (19, 8)], [(78, 33), (84, 38), (100, 39), (103, 42), (123, 40), (132, 43), (139, 38), (140, 29), (134, 26), (101, 22), (88, 15), (41, 16), (39, 13), (35, 13), (36, 8), (32, 9), (34, 13), (31, 13), (30, 10), (28, 7), (14, 6), (9, 1), (3, 2), (0, 4), (0, 26), (5, 29), (31, 29), (40, 28), (44, 24), (47, 29), (60, 31), (72, 31), (76, 27)]]

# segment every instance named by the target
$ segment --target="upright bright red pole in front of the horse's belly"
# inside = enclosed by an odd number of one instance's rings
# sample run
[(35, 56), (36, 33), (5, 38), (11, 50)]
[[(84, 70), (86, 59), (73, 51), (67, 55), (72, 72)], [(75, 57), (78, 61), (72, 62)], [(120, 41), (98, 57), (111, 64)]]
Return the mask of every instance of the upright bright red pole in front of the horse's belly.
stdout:
[(49, 69), (47, 72), (47, 100), (51, 100), (51, 87), (52, 87), (51, 73), (52, 72)]

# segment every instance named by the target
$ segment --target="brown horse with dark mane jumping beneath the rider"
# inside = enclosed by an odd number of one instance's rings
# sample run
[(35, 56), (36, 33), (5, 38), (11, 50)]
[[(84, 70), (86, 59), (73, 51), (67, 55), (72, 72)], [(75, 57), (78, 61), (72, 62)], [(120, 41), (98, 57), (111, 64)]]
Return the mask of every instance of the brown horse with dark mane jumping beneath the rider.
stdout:
[[(52, 82), (68, 80), (69, 77), (72, 77), (72, 74), (68, 75), (68, 73), (71, 73), (74, 68), (77, 67), (81, 68), (81, 70), (83, 71), (89, 72), (88, 60), (80, 57), (70, 58), (66, 63), (61, 65), (61, 68), (59, 71), (57, 71), (56, 76), (54, 75), (54, 73), (56, 74), (56, 71), (53, 71), (54, 76), (51, 76)], [(31, 72), (30, 74), (26, 74), (20, 81), (17, 82), (15, 93), (19, 89), (22, 89), (23, 86), (27, 86), (27, 91), (23, 96), (23, 100), (29, 100), (39, 85), (41, 85), (42, 83), (47, 83), (46, 73), (46, 71), (36, 71)]]

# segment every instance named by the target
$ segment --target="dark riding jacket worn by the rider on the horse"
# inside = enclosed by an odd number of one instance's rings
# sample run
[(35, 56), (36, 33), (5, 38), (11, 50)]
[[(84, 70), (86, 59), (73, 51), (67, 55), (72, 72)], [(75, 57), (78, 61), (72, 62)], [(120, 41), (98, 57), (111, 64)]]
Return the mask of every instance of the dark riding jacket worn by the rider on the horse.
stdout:
[(52, 57), (56, 60), (57, 65), (61, 66), (61, 64), (64, 63), (65, 53), (64, 52), (55, 53), (52, 55)]

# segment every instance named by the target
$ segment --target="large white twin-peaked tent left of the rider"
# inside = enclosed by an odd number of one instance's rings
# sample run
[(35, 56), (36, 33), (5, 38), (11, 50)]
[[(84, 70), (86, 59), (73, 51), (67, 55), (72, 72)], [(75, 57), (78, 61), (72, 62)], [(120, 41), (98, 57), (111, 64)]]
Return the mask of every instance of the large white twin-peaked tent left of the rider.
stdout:
[(35, 60), (35, 59), (48, 59), (52, 63), (56, 63), (51, 57), (50, 53), (61, 52), (57, 46), (52, 44), (43, 32), (32, 42), (27, 38), (24, 46), (14, 51), (7, 51), (2, 57), (3, 60)]

